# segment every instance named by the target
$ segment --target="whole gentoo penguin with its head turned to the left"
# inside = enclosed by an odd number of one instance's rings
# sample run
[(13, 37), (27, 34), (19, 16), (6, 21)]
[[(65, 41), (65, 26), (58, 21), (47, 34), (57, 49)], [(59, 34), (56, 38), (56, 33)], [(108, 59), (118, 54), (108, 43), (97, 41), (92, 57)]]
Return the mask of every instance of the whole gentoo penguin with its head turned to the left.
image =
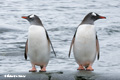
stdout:
[[(29, 55), (32, 69), (29, 72), (36, 72), (35, 65), (40, 66), (40, 71), (46, 71), (46, 66), (50, 58), (50, 44), (48, 33), (45, 30), (41, 20), (36, 15), (22, 16), (30, 22), (28, 31), (28, 39), (25, 45), (25, 59), (27, 59), (27, 53)], [(53, 46), (51, 44), (53, 49)], [(53, 49), (55, 54), (55, 51)], [(56, 54), (55, 54), (56, 56)]]

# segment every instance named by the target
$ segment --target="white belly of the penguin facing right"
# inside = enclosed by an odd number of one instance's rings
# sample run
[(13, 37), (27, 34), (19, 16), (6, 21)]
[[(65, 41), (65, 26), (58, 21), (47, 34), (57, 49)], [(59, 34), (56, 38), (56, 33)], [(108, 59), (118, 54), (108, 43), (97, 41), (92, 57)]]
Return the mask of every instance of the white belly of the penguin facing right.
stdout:
[(73, 52), (79, 65), (94, 62), (96, 56), (96, 32), (93, 25), (86, 24), (78, 27)]

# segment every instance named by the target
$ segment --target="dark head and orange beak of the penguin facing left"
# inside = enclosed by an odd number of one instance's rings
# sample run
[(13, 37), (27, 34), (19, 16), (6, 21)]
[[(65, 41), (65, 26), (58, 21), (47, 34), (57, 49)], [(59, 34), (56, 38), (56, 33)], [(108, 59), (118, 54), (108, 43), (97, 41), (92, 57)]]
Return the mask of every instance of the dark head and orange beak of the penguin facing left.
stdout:
[(22, 18), (27, 19), (31, 25), (42, 25), (42, 22), (39, 19), (39, 17), (34, 14), (29, 16), (22, 16)]

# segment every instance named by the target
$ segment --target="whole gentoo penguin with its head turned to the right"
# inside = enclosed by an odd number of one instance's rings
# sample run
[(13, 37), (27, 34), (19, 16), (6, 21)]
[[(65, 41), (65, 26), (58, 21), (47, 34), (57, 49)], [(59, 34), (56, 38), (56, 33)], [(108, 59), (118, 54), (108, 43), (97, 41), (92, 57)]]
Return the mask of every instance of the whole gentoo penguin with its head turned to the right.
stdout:
[(93, 71), (92, 64), (97, 55), (99, 59), (99, 42), (95, 31), (94, 21), (106, 19), (97, 13), (90, 12), (78, 26), (69, 50), (69, 57), (73, 46), (73, 53), (79, 65), (78, 70)]

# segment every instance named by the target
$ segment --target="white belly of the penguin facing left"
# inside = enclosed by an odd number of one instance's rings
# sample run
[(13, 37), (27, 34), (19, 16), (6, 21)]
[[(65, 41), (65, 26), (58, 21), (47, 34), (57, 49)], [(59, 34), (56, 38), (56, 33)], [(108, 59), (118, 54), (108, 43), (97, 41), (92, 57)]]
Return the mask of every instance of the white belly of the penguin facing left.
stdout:
[(28, 55), (31, 63), (47, 65), (50, 57), (50, 44), (48, 43), (45, 29), (32, 25), (28, 32)]

